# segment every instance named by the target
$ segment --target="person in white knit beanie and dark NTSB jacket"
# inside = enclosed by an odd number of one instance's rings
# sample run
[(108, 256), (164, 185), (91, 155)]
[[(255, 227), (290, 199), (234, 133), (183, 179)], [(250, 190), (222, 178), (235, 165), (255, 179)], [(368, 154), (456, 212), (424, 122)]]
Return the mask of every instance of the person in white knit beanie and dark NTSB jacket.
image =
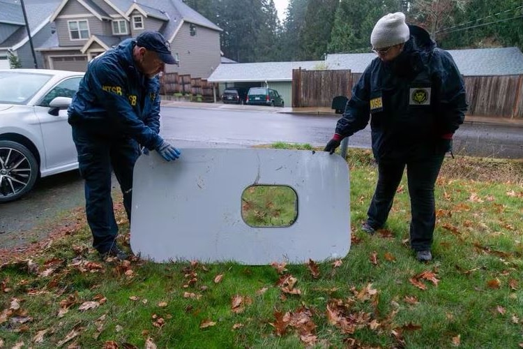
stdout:
[(411, 248), (418, 260), (432, 260), (434, 184), (467, 111), (464, 83), (450, 54), (424, 29), (407, 26), (403, 13), (381, 17), (370, 41), (378, 57), (354, 87), (324, 150), (333, 154), (370, 119), (378, 183), (362, 229), (374, 234), (384, 226), (407, 167)]

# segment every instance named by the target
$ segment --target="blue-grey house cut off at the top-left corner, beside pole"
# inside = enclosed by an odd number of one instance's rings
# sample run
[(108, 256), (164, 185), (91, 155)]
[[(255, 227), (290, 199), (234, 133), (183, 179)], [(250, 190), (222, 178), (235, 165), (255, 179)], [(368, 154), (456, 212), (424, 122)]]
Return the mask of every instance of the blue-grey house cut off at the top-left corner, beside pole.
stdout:
[[(33, 47), (45, 43), (52, 36), (50, 18), (61, 0), (25, 0), (27, 22)], [(35, 60), (20, 0), (0, 0), (0, 68), (10, 68), (9, 54), (15, 55), (22, 68), (35, 68)], [(43, 57), (36, 52), (36, 65), (43, 68)]]

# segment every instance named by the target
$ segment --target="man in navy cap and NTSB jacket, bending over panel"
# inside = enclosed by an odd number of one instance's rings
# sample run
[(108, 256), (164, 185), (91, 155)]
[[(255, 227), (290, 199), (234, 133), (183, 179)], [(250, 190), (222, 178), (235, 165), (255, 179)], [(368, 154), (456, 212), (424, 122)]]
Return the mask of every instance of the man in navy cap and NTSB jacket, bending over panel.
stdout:
[(166, 161), (180, 156), (158, 134), (157, 74), (165, 64), (175, 63), (169, 42), (156, 31), (144, 31), (89, 62), (69, 107), (68, 121), (85, 180), (87, 222), (93, 246), (103, 258), (127, 258), (115, 240), (118, 226), (111, 198), (112, 170), (130, 221), (132, 171), (142, 147), (158, 151)]

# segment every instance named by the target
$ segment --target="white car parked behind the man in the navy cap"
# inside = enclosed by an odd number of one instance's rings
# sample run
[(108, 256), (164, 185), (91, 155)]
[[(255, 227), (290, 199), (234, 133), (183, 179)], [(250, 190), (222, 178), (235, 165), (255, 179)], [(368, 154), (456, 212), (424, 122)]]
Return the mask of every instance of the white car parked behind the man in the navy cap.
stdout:
[(78, 168), (67, 107), (83, 75), (0, 69), (0, 203), (22, 197), (39, 177)]

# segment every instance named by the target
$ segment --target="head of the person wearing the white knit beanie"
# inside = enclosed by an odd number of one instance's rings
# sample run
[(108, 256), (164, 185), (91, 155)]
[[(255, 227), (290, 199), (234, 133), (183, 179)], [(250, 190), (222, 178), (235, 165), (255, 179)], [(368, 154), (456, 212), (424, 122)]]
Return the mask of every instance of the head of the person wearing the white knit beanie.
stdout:
[(372, 50), (384, 61), (393, 59), (402, 50), (402, 44), (410, 38), (405, 15), (401, 12), (389, 13), (381, 17), (372, 29), (370, 43)]

